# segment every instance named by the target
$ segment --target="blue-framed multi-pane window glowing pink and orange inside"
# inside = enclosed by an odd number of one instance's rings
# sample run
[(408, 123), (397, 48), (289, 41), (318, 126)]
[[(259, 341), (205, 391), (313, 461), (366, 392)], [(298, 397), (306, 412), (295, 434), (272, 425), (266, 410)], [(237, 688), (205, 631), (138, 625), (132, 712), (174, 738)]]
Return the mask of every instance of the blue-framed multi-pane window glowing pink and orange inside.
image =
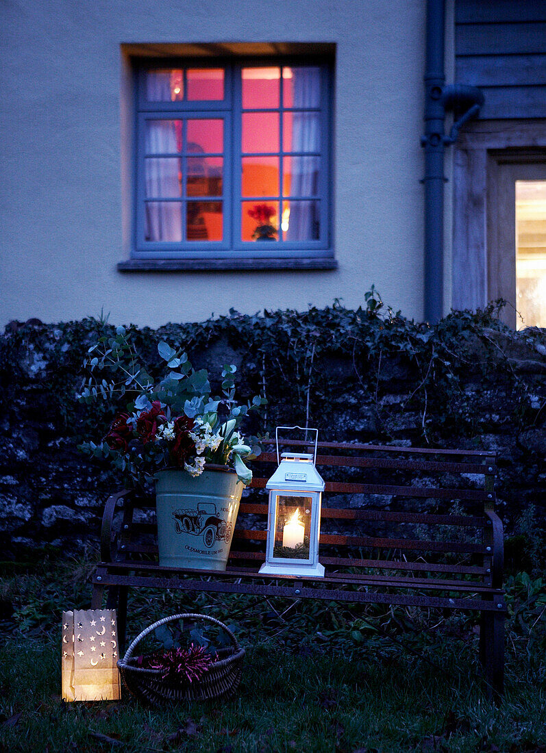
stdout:
[(139, 70), (136, 259), (331, 258), (328, 65)]

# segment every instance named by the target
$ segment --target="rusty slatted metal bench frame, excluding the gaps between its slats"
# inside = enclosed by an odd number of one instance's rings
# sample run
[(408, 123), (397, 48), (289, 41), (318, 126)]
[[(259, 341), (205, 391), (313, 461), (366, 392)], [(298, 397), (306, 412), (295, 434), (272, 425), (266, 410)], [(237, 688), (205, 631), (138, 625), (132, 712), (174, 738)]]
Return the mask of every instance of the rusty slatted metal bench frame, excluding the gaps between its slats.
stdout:
[[(291, 445), (305, 443), (294, 443)], [(340, 521), (340, 525), (360, 521), (381, 524), (424, 523), (427, 526), (467, 527), (481, 533), (480, 541), (422, 540), (420, 538), (374, 538), (322, 532), (319, 561), (325, 566), (324, 578), (300, 576), (264, 576), (258, 573), (264, 561), (267, 533), (264, 529), (244, 529), (239, 525), (233, 544), (246, 542), (240, 550), (232, 545), (225, 572), (180, 570), (161, 567), (151, 562), (157, 557), (157, 545), (139, 544), (142, 533), (154, 531), (153, 523), (135, 523), (135, 509), (154, 507), (151, 499), (136, 498), (134, 492), (124, 490), (106, 501), (102, 520), (101, 559), (93, 574), (93, 608), (102, 606), (103, 593), (108, 590), (107, 605), (117, 608), (118, 636), (124, 645), (127, 620), (127, 593), (130, 588), (169, 588), (209, 593), (248, 593), (255, 596), (282, 596), (297, 599), (407, 605), (441, 610), (471, 610), (480, 612), (480, 662), (487, 685), (487, 693), (499, 699), (504, 682), (504, 623), (505, 593), (502, 590), (503, 538), (502, 522), (495, 506), (495, 453), (471, 450), (430, 450), (415, 447), (380, 447), (363, 444), (319, 442), (317, 468), (323, 476), (325, 469), (365, 469), (377, 474), (383, 471), (440, 472), (466, 480), (472, 474), (483, 478), (483, 488), (434, 488), (432, 486), (393, 485), (392, 483), (348, 483), (326, 481), (321, 521)], [(342, 455), (338, 453), (343, 453)], [(355, 455), (356, 453), (356, 455)], [(377, 457), (377, 454), (380, 456)], [(276, 453), (263, 453), (260, 462), (275, 464)], [(355, 471), (352, 471), (353, 474)], [(251, 489), (264, 489), (267, 477), (255, 477)], [(460, 484), (459, 484), (460, 486)], [(468, 487), (468, 482), (466, 483)], [(246, 514), (267, 516), (265, 492), (262, 501), (245, 501), (239, 507), (239, 521)], [(394, 512), (369, 508), (332, 508), (329, 495), (335, 494), (389, 495), (393, 498), (433, 498), (446, 503), (455, 499), (479, 506), (476, 515), (438, 514), (435, 512)], [(121, 518), (119, 531), (114, 520)], [(258, 548), (257, 550), (257, 547)], [(355, 556), (330, 556), (326, 550), (340, 547), (376, 549), (383, 559), (363, 559)], [(401, 552), (422, 552), (438, 555), (455, 553), (472, 556), (471, 564), (426, 562), (402, 559)], [(387, 552), (387, 554), (386, 554)], [(398, 553), (398, 559), (394, 555)], [(392, 556), (389, 556), (392, 555)], [(148, 558), (148, 561), (142, 559)], [(242, 563), (242, 564), (241, 564)], [(352, 572), (343, 572), (350, 568)], [(342, 572), (340, 572), (340, 569)], [(361, 569), (361, 572), (355, 570)], [(370, 569), (379, 573), (370, 573)], [(385, 575), (398, 571), (398, 575)], [(472, 580), (472, 578), (474, 578)], [(364, 587), (359, 589), (358, 587)]]

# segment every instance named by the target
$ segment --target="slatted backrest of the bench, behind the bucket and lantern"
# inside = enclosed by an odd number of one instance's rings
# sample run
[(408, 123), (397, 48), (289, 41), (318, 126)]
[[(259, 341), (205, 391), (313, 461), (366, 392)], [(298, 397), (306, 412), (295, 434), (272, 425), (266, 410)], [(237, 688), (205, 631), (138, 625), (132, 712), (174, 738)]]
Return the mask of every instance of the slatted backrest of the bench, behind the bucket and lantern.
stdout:
[[(282, 444), (314, 449), (303, 441)], [(255, 476), (239, 506), (230, 566), (264, 561), (264, 488), (276, 452), (262, 453), (252, 465)], [(319, 442), (316, 465), (325, 479), (319, 561), (329, 572), (360, 568), (490, 581), (485, 511), (495, 503), (494, 453)], [(154, 501), (136, 499), (135, 508), (147, 508), (148, 517), (123, 532), (124, 556), (157, 557)]]

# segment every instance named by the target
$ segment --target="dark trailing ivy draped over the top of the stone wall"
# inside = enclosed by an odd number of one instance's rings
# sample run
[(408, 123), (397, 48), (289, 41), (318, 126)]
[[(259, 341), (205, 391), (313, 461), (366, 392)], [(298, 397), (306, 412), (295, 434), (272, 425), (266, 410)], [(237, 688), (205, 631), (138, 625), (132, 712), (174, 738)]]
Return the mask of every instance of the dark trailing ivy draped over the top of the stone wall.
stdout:
[[(499, 387), (500, 399), (510, 403), (502, 413), (514, 431), (546, 418), (544, 332), (514, 334), (499, 321), (500, 306), (453, 312), (430, 327), (385, 308), (372, 286), (356, 310), (336, 300), (307, 312), (249, 316), (232, 309), (230, 316), (206, 322), (127, 329), (151, 374), (160, 340), (185, 349), (197, 367), (215, 371), (218, 363), (236, 363), (244, 392), (268, 401), (257, 431), (290, 420), (319, 425), (328, 438), (340, 440), (347, 437), (336, 415), (349, 411), (368, 417), (363, 434), (391, 441), (400, 417), (410, 413), (417, 444), (443, 444), (453, 434), (480, 436), (489, 420), (480, 400), (483, 405), (484, 394)], [(0, 340), (0, 386), (44, 380), (48, 413), (65, 434), (80, 438), (90, 427), (107, 425), (111, 407), (107, 412), (99, 402), (91, 413), (75, 401), (81, 362), (102, 333), (114, 333), (105, 318), (11, 323)]]

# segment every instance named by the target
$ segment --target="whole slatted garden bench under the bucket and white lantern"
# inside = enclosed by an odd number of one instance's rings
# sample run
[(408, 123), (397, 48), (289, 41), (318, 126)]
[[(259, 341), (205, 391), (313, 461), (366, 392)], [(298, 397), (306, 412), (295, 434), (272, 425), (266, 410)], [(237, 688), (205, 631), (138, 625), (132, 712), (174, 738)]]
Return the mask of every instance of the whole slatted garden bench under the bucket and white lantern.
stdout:
[(264, 486), (275, 466), (273, 452), (253, 463), (225, 572), (160, 567), (154, 500), (127, 490), (108, 498), (93, 608), (107, 590), (121, 645), (127, 591), (134, 587), (479, 611), (480, 661), (489, 694), (500, 697), (506, 607), (495, 454), (319, 442), (324, 578), (258, 574), (266, 543)]

